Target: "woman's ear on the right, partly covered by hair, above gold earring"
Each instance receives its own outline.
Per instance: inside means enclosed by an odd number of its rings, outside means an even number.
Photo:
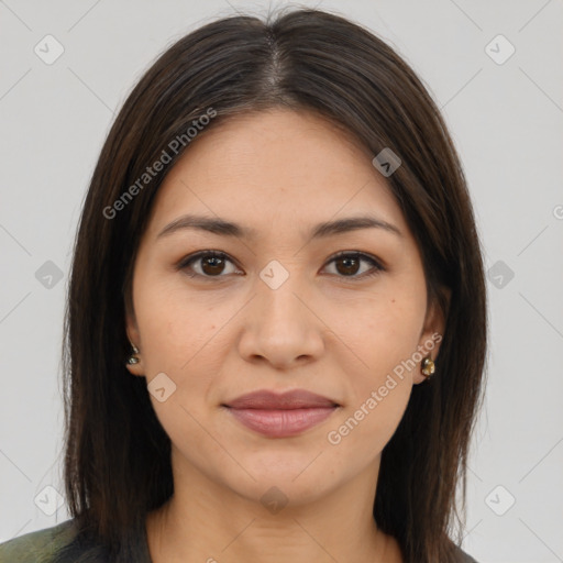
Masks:
[[[448,287],[442,287],[439,291],[440,297],[431,299],[428,303],[424,324],[418,342],[418,351],[422,355],[422,360],[430,356],[430,358],[435,362],[437,372],[440,371],[440,362],[437,361],[437,357],[444,335],[448,311],[450,309],[450,298],[452,295],[451,289]],[[420,371],[422,360],[419,362],[412,378],[415,385],[427,380]]]

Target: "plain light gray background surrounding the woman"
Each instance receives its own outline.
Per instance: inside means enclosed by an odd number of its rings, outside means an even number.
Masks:
[[[390,43],[442,108],[465,166],[490,272],[492,347],[463,547],[481,563],[563,561],[562,2],[301,5],[335,10]],[[114,112],[173,41],[267,8],[0,1],[0,541],[68,518],[55,492],[65,286]],[[55,53],[47,34],[64,47],[51,65],[34,52]]]

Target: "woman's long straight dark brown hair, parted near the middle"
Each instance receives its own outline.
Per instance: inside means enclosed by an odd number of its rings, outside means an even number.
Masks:
[[[185,139],[210,108],[216,117],[198,134],[232,115],[275,107],[314,112],[374,156],[390,147],[402,161],[387,183],[417,240],[429,297],[443,308],[446,325],[438,373],[413,386],[383,451],[374,517],[398,540],[406,562],[454,561],[453,525],[460,526],[457,544],[463,526],[455,489],[461,482],[465,509],[487,324],[466,181],[440,112],[412,69],[358,24],[309,9],[266,21],[229,16],[189,33],[141,78],[109,132],[80,218],[65,318],[70,514],[81,538],[98,541],[111,561],[128,561],[147,511],[173,494],[170,441],[146,380],[125,367],[125,312],[137,245],[161,183],[189,150],[185,143],[172,151],[172,140]],[[163,151],[170,162],[141,188],[139,179]],[[135,183],[134,198],[126,196]],[[119,212],[108,218],[110,207]],[[451,291],[449,307],[444,288]]]

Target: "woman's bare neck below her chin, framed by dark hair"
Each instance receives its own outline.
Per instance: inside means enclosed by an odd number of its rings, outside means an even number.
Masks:
[[[396,540],[373,518],[378,464],[322,498],[307,504],[288,498],[285,506],[277,489],[263,504],[192,466],[181,467],[181,478],[177,473],[173,497],[147,518],[153,563],[401,561]]]

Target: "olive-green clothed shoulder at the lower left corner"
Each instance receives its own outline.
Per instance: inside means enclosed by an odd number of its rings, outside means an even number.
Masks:
[[[0,543],[0,563],[51,563],[76,534],[74,520],[25,533]]]

